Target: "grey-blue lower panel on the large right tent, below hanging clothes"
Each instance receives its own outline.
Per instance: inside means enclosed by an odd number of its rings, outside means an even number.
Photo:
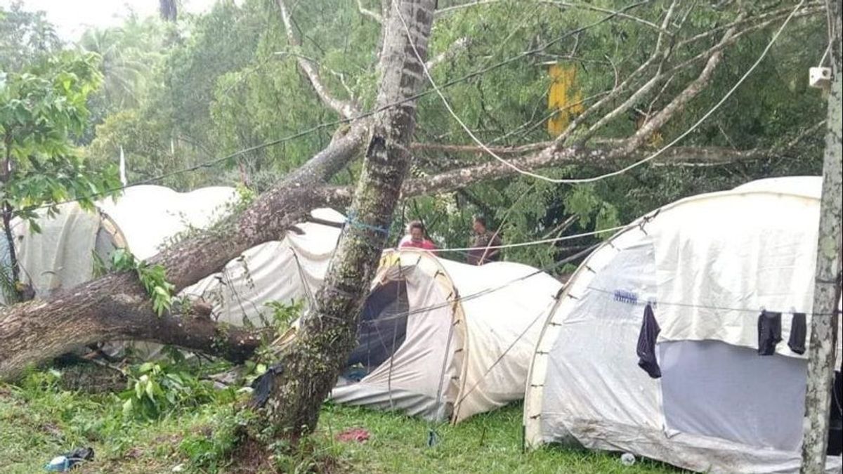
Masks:
[[[658,344],[668,428],[752,446],[802,444],[806,363],[719,341]]]

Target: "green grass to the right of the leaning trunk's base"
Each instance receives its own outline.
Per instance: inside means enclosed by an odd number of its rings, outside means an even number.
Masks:
[[[522,453],[521,414],[516,404],[458,425],[438,425],[438,444],[433,447],[427,445],[429,423],[362,408],[326,406],[319,430],[336,435],[346,428],[368,429],[371,438],[366,443],[339,447],[340,459],[351,472],[677,472],[652,461],[623,466],[619,455],[585,450],[547,447]]]

